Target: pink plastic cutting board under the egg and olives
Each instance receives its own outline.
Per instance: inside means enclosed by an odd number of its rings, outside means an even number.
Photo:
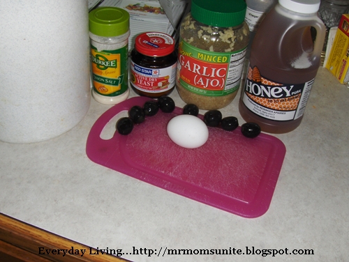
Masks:
[[[182,114],[179,107],[167,114],[159,110],[127,136],[115,131],[111,139],[101,139],[103,128],[115,115],[134,105],[142,107],[147,100],[130,98],[98,118],[87,138],[90,160],[242,217],[267,212],[285,157],[282,141],[263,133],[249,139],[240,127],[232,132],[209,128],[206,144],[182,148],[166,132],[168,121]]]

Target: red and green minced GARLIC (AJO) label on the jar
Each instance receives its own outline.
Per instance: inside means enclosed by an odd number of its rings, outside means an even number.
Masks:
[[[246,48],[237,52],[209,52],[181,40],[177,79],[188,91],[223,96],[239,88]]]

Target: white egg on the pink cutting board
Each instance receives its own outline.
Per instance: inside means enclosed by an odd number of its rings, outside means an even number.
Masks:
[[[184,148],[198,148],[206,143],[209,130],[200,118],[189,114],[174,116],[168,122],[168,136]]]

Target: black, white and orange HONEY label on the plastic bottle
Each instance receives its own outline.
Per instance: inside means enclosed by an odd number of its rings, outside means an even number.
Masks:
[[[274,121],[290,121],[303,116],[314,79],[304,84],[275,83],[248,68],[242,101],[253,113]]]

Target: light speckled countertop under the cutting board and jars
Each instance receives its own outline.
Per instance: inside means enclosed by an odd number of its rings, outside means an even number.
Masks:
[[[178,107],[185,105],[177,91],[170,96]],[[241,124],[237,105],[235,98],[221,111]],[[287,152],[269,210],[253,219],[89,160],[89,130],[110,107],[91,98],[83,120],[59,137],[34,144],[0,142],[0,213],[97,249],[138,249],[138,255],[122,256],[137,262],[348,261],[349,88],[325,68],[315,78],[299,128],[274,135]],[[113,133],[110,123],[103,137]],[[144,248],[235,248],[245,254],[149,256]],[[253,248],[255,254],[246,254]],[[286,248],[313,254],[286,255]],[[262,249],[284,254],[262,256]]]

